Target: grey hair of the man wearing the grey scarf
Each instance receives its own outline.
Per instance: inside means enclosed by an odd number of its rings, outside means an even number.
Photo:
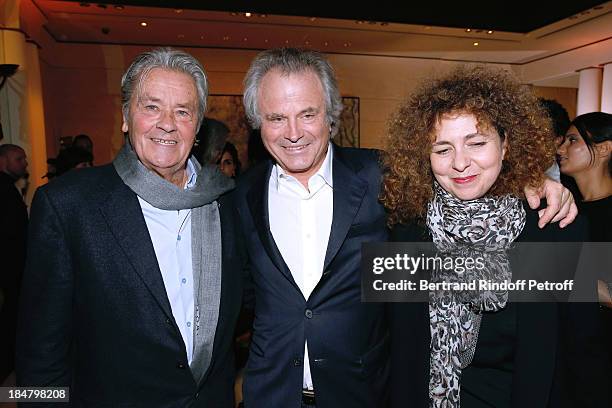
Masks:
[[[123,117],[129,118],[130,101],[134,92],[138,96],[144,79],[155,68],[183,72],[193,78],[198,93],[198,122],[196,132],[200,129],[204,112],[206,111],[206,97],[208,96],[208,81],[206,72],[200,62],[184,51],[173,48],[157,48],[138,55],[132,65],[121,78],[121,110]]]

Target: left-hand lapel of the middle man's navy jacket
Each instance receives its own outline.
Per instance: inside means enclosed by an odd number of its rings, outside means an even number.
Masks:
[[[283,256],[281,255],[274,237],[270,231],[270,217],[268,213],[268,181],[270,180],[270,173],[272,172],[272,164],[268,166],[261,166],[257,170],[259,174],[254,175],[253,185],[247,193],[249,210],[251,211],[251,217],[253,217],[253,223],[255,229],[259,235],[259,239],[268,254],[268,257],[281,271],[281,273],[291,282],[291,284],[301,293],[300,288],[295,283],[293,275],[289,267],[285,263]]]

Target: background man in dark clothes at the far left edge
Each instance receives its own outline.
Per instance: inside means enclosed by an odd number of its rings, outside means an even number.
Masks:
[[[15,182],[27,175],[25,151],[0,146],[0,383],[15,366],[19,287],[26,256],[28,210]]]

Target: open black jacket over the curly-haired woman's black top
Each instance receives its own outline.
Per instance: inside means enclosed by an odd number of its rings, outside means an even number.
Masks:
[[[530,210],[526,205],[525,208],[526,225],[516,242],[572,242],[582,241],[587,236],[587,225],[583,218],[579,217],[565,229],[553,224],[540,230],[537,227],[537,212]],[[420,242],[431,241],[431,237],[426,227],[411,224],[394,228],[392,240]],[[569,361],[574,350],[581,347],[567,341],[580,335],[580,324],[575,325],[576,318],[571,317],[571,313],[575,313],[572,312],[575,305],[516,303],[515,306],[516,332],[513,344],[511,401],[507,401],[507,406],[517,408],[598,406],[577,404],[572,397],[574,394],[572,390],[576,390],[577,387],[585,391],[574,382],[575,378],[571,375],[573,363]],[[587,309],[592,306],[588,303],[577,305],[582,313],[586,313],[582,318],[588,316]],[[596,308],[594,311],[596,312]],[[429,406],[431,341],[429,308],[427,304],[422,303],[396,303],[390,307],[390,315],[391,407],[426,408]],[[483,327],[487,324],[487,317],[483,316]],[[582,329],[585,328],[587,327],[583,325]],[[585,344],[581,340],[579,343]],[[465,370],[470,369],[471,367],[468,367]],[[463,401],[461,406],[470,407]]]

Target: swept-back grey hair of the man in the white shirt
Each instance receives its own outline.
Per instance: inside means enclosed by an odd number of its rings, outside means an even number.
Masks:
[[[254,129],[261,127],[261,116],[257,106],[257,91],[262,78],[271,70],[280,70],[283,75],[313,72],[323,85],[325,117],[331,127],[331,136],[338,132],[342,98],[334,69],[322,54],[299,48],[274,48],[259,53],[244,78],[244,109]]]

